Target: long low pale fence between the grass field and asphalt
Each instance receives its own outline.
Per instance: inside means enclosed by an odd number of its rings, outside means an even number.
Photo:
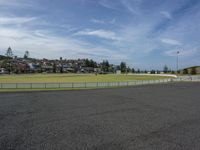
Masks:
[[[147,85],[171,82],[172,79],[126,82],[74,82],[74,83],[0,83],[0,89],[54,89],[54,88],[102,88]]]

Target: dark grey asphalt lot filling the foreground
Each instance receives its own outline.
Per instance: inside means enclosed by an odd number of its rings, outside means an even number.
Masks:
[[[200,82],[0,93],[0,150],[199,150]]]

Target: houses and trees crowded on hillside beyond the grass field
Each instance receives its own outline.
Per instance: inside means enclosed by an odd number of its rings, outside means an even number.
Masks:
[[[0,55],[0,70],[3,73],[93,73],[102,72],[102,64],[88,59],[34,59],[11,58]]]

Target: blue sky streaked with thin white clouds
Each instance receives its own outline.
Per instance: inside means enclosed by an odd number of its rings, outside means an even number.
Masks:
[[[200,65],[199,0],[0,0],[0,54]]]

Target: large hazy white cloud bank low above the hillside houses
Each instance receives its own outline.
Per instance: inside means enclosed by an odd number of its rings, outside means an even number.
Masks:
[[[15,55],[28,50],[36,58],[93,58],[98,61],[109,59],[120,61],[126,56],[103,46],[76,40],[71,37],[53,35],[47,30],[27,30],[0,26],[0,49],[9,46]],[[17,53],[16,53],[17,52]],[[3,54],[3,53],[2,53]],[[112,58],[110,58],[112,56]]]

